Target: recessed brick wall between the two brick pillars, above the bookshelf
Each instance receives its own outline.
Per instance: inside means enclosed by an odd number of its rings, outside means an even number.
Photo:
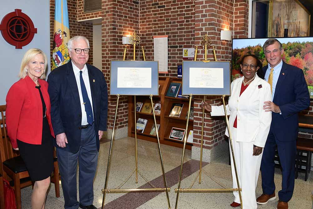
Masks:
[[[194,47],[193,0],[141,0],[139,28],[141,46],[146,60],[154,60],[153,36],[168,35],[168,74],[177,77],[177,65],[182,65],[183,47]]]

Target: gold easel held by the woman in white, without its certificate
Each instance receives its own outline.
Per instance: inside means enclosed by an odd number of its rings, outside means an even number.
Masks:
[[[200,39],[201,45],[203,45],[205,48],[205,57],[203,62],[210,62],[207,60],[207,46],[210,46],[212,44],[211,38],[209,38],[207,35],[204,35]],[[195,52],[195,58],[194,61],[197,59],[197,52],[198,52],[198,46],[196,46],[196,52]],[[214,54],[214,59],[216,59],[216,54],[215,54],[215,48],[213,46],[213,54]],[[205,102],[205,98],[207,95],[203,96],[203,102]],[[191,99],[192,99],[192,94],[189,95],[189,109],[188,109],[188,118],[187,118],[187,125],[186,125],[186,130],[188,128],[188,123],[189,123],[189,114],[190,114],[190,107],[191,107]],[[201,151],[200,151],[200,168],[198,175],[196,176],[195,180],[192,182],[191,186],[189,188],[180,188],[180,183],[182,179],[182,167],[183,167],[183,160],[184,160],[184,154],[185,154],[185,147],[186,147],[186,141],[187,141],[187,134],[185,134],[184,137],[184,146],[182,150],[182,162],[181,162],[181,167],[180,167],[180,174],[179,174],[179,180],[178,180],[178,188],[175,189],[177,191],[177,196],[176,196],[176,203],[175,203],[175,209],[177,209],[178,206],[178,197],[179,197],[179,192],[207,192],[207,191],[212,191],[212,192],[232,192],[232,191],[238,191],[239,192],[239,199],[240,199],[240,207],[242,209],[242,196],[241,196],[241,188],[239,185],[239,180],[238,180],[238,174],[237,174],[237,167],[236,167],[236,162],[235,162],[235,155],[233,152],[233,142],[232,142],[232,137],[230,133],[230,127],[228,123],[228,117],[227,117],[227,112],[226,112],[226,105],[225,105],[225,95],[222,96],[223,99],[223,106],[224,106],[224,112],[225,112],[225,119],[226,119],[226,124],[228,128],[228,133],[229,133],[229,142],[230,142],[230,147],[232,151],[232,156],[233,156],[233,162],[234,162],[234,169],[235,169],[235,174],[236,174],[236,181],[238,188],[230,188],[230,189],[192,189],[193,184],[196,182],[198,176],[199,176],[199,184],[201,184],[201,172],[203,171],[204,174],[209,176],[204,170],[202,170],[202,153],[203,153],[203,126],[204,126],[204,108],[202,110],[202,129],[201,129]]]

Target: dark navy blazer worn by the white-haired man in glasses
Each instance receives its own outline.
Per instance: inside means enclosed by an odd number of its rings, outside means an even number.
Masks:
[[[108,91],[103,73],[96,67],[86,64],[90,82],[95,133],[106,131],[108,115]],[[82,112],[78,87],[72,62],[64,64],[48,76],[48,93],[51,102],[51,122],[54,134],[65,133],[68,144],[64,149],[76,153],[80,147]],[[99,151],[99,139],[96,137]]]

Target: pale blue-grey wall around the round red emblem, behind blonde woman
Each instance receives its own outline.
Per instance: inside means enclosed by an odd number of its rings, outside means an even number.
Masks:
[[[15,46],[8,44],[0,34],[0,105],[5,105],[5,97],[13,83],[18,81],[18,72],[21,60],[25,52],[30,48],[39,48],[48,57],[47,73],[50,72],[50,19],[49,1],[38,0],[0,0],[0,22],[3,17],[14,9],[22,9],[27,14],[37,28],[37,34],[33,40],[23,49],[15,49]]]

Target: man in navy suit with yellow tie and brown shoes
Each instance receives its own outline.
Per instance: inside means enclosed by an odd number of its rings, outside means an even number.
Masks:
[[[263,45],[268,65],[263,67],[265,80],[271,84],[272,101],[264,102],[264,110],[272,111],[272,123],[261,162],[263,194],[258,204],[275,200],[274,155],[277,146],[282,166],[282,190],[278,192],[277,209],[288,209],[295,185],[296,139],[298,113],[310,106],[310,95],[302,69],[281,60],[284,53],[277,39]]]

